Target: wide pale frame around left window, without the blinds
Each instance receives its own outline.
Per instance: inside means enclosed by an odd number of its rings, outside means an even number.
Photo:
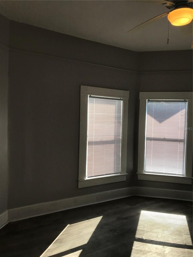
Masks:
[[[87,110],[88,96],[106,96],[123,99],[122,111],[122,153],[121,153],[121,173],[97,177],[86,177],[87,162]],[[79,171],[78,188],[96,186],[101,184],[120,182],[126,180],[127,170],[127,126],[128,126],[128,99],[129,91],[107,89],[93,86],[81,86],[80,103],[80,140],[79,140]]]

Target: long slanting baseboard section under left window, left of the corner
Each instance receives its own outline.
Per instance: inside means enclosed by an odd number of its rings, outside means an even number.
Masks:
[[[43,202],[34,205],[23,206],[19,208],[9,209],[8,220],[9,222],[18,221],[95,203],[107,202],[132,195],[134,195],[134,187],[126,187],[100,193],[61,199],[52,202]]]

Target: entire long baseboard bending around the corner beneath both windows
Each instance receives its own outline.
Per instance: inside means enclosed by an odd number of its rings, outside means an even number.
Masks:
[[[121,199],[128,196],[146,196],[192,201],[191,191],[133,186],[9,209],[8,221],[18,221],[81,206]]]

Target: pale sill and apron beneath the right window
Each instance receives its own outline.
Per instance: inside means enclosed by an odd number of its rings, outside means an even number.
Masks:
[[[174,175],[162,175],[162,174],[151,174],[151,173],[139,173],[138,180],[149,180],[158,182],[168,182],[168,183],[179,183],[179,184],[191,184],[192,177],[182,177]]]

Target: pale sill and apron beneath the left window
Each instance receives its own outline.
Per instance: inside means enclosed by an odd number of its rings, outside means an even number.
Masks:
[[[121,182],[126,180],[125,174],[115,174],[109,176],[101,176],[101,177],[92,177],[78,181],[78,188],[87,187],[87,186],[97,186],[102,184]]]

